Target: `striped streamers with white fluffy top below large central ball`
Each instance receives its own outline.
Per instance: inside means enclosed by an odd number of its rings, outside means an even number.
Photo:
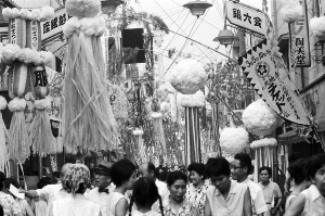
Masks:
[[[185,165],[202,162],[200,129],[198,109],[205,105],[206,97],[203,91],[195,94],[180,94],[179,104],[185,107]]]

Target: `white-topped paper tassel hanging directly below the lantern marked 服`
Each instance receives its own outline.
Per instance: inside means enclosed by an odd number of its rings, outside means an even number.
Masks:
[[[49,99],[36,100],[34,103],[36,115],[29,127],[28,145],[32,151],[44,156],[47,154],[56,154],[56,142],[52,135],[48,109],[51,107]]]

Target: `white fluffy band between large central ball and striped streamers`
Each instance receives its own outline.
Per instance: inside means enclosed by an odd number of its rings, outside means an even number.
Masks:
[[[206,104],[206,97],[203,91],[194,94],[178,94],[178,103],[183,107],[202,107]]]

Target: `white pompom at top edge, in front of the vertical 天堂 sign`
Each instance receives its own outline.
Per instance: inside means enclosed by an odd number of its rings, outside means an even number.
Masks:
[[[280,11],[282,18],[286,23],[292,23],[301,18],[303,15],[303,9],[299,1],[295,0],[283,0],[282,9]]]

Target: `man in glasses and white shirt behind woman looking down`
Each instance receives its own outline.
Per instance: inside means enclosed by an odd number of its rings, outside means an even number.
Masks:
[[[251,158],[246,153],[237,153],[231,163],[233,180],[247,183],[251,198],[252,215],[261,216],[268,212],[262,189],[258,183],[249,180],[248,175],[252,171]]]

